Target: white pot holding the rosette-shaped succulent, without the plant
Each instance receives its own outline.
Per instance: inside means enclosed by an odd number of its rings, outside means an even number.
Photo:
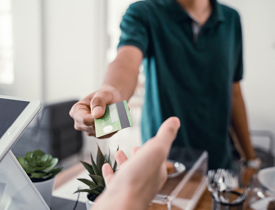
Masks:
[[[36,189],[39,191],[45,202],[51,207],[52,191],[55,185],[55,176],[45,181],[32,182]]]

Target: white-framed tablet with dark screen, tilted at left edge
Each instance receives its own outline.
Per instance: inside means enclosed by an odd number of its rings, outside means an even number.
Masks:
[[[37,99],[0,95],[0,161],[40,108]]]

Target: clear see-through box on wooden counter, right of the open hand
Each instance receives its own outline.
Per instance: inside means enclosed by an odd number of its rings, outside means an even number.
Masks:
[[[206,187],[208,153],[191,148],[174,148],[168,157],[186,168],[181,174],[168,178],[152,200],[150,209],[193,209]],[[161,207],[161,205],[166,207]]]

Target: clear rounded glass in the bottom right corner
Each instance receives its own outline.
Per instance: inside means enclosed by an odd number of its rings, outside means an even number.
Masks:
[[[275,209],[275,167],[260,169],[253,175],[243,209]]]

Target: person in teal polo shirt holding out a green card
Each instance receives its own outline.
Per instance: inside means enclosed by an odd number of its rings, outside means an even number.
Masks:
[[[232,125],[247,159],[254,158],[239,80],[242,40],[238,13],[215,0],[144,0],[120,24],[117,56],[102,87],[76,103],[75,128],[94,135],[106,104],[133,94],[144,67],[142,140],[169,116],[180,119],[173,147],[206,149],[209,168],[228,168]]]

